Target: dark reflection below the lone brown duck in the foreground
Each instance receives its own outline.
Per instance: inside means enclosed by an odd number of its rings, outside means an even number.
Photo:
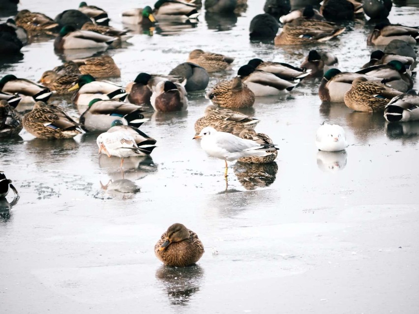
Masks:
[[[188,267],[161,266],[156,271],[156,278],[167,292],[173,305],[186,305],[199,291],[204,278],[204,269],[199,265]]]

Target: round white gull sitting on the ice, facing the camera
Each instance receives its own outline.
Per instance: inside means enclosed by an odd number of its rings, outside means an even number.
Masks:
[[[323,122],[316,132],[316,146],[323,152],[343,151],[348,147],[345,130],[337,124]]]

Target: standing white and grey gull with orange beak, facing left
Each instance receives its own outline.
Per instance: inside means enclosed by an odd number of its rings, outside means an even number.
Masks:
[[[224,159],[226,168],[224,176],[227,178],[227,160],[233,161],[241,157],[265,157],[272,151],[277,150],[274,144],[261,145],[250,139],[240,138],[239,136],[216,131],[214,128],[206,127],[193,139],[201,138],[202,149],[211,157]]]

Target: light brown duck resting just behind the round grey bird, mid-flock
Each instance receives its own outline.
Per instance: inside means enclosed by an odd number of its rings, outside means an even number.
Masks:
[[[186,61],[203,67],[207,72],[217,72],[230,70],[234,58],[223,54],[204,52],[201,49],[195,49],[189,53],[189,57]]]

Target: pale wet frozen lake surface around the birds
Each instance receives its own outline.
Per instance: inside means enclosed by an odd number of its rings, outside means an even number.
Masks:
[[[54,18],[79,2],[27,0],[19,9]],[[167,74],[198,48],[236,57],[210,86],[254,57],[299,66],[316,46],[250,43],[248,26],[263,2],[248,0],[237,18],[202,10],[196,27],[137,33],[107,52],[121,69],[113,80]],[[150,4],[88,3],[119,28],[123,10]],[[417,26],[419,8],[393,6],[389,21]],[[366,46],[372,25],[346,26],[318,47],[336,54],[341,70],[355,71],[374,50]],[[21,61],[0,67],[0,77],[38,80],[64,58],[53,40],[22,52]],[[189,95],[184,113],[150,108],[141,129],[158,147],[152,159],[124,162],[123,179],[136,193],[115,190],[120,159],[99,158],[95,134],[49,141],[23,131],[1,141],[0,170],[21,195],[0,213],[1,313],[419,313],[419,122],[389,125],[382,113],[322,105],[318,85],[305,81],[280,97],[257,98],[247,112],[279,146],[278,158],[269,167],[229,163],[227,188],[224,162],[192,140],[209,105],[204,93]],[[78,117],[68,97],[52,100]],[[315,132],[325,120],[346,130],[346,154],[317,151]],[[265,177],[255,178],[257,171]],[[175,222],[204,243],[196,266],[169,268],[154,256]]]

